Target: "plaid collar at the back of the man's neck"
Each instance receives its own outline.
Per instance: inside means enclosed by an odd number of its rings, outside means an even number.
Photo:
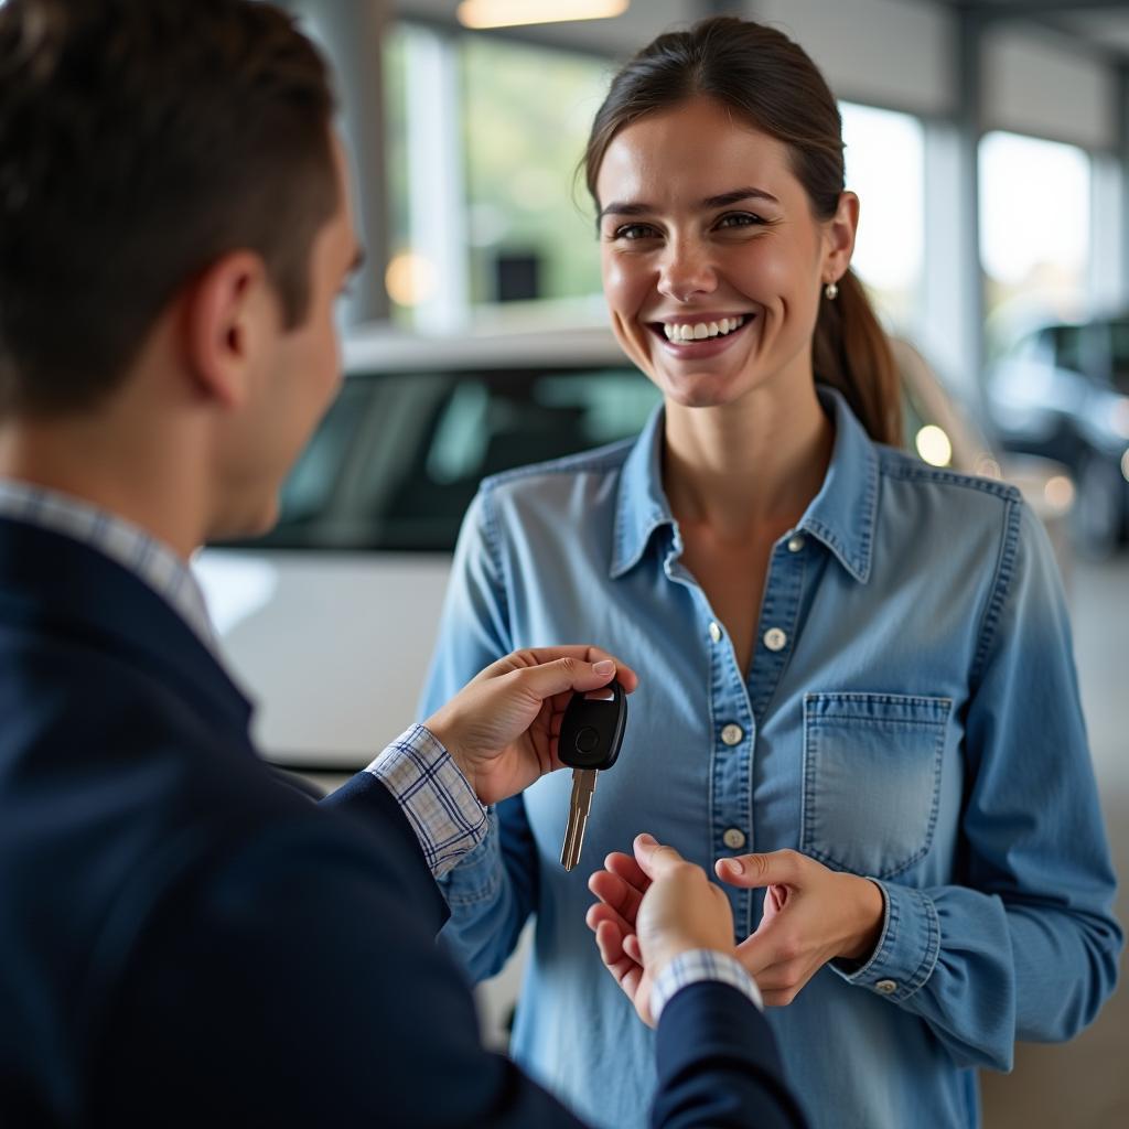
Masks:
[[[0,479],[0,516],[61,533],[116,561],[216,650],[216,633],[195,577],[168,545],[140,526],[71,495],[12,479]]]

